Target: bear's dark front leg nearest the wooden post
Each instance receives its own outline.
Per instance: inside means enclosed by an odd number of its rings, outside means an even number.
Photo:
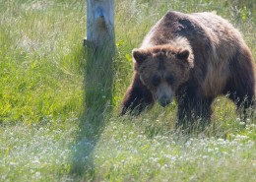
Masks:
[[[125,93],[121,105],[121,115],[126,113],[138,115],[147,107],[154,104],[154,98],[146,86],[142,84],[138,75],[134,76],[132,85]]]

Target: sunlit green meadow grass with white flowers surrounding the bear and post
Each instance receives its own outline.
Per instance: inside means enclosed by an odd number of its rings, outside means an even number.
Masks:
[[[117,116],[131,51],[168,10],[216,11],[256,58],[253,0],[117,0],[113,109],[98,113],[84,104],[86,1],[0,0],[0,181],[256,181],[256,121],[225,97],[191,136],[175,103]]]

